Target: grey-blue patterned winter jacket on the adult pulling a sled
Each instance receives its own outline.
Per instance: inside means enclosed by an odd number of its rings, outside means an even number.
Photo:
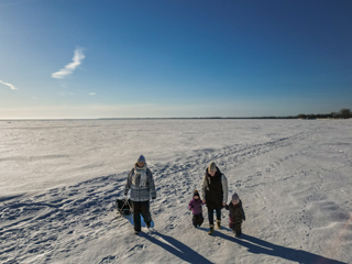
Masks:
[[[145,164],[145,183],[141,184],[142,175],[139,174],[140,170],[141,168],[135,165],[129,173],[128,180],[124,186],[124,195],[127,196],[131,189],[130,199],[132,201],[148,201],[151,197],[156,197],[153,174]]]

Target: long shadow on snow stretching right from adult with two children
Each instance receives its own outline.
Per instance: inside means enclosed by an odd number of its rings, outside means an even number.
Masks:
[[[276,245],[248,234],[242,234],[241,239],[229,237],[221,232],[216,232],[215,235],[245,246],[248,248],[249,252],[253,254],[277,256],[288,261],[298,262],[300,264],[346,264],[344,262],[327,258],[324,256],[309,253],[307,251],[294,250],[282,245]]]

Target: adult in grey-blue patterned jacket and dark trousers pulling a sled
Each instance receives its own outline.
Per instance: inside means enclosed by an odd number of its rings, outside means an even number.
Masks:
[[[141,215],[146,227],[151,227],[150,199],[151,197],[152,199],[156,198],[153,174],[147,167],[143,155],[139,157],[128,176],[124,196],[128,196],[130,189],[130,199],[133,206],[134,233],[139,234],[141,232]]]

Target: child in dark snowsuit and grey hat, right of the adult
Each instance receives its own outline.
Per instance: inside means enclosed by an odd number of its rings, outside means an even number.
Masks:
[[[245,221],[245,215],[242,208],[242,201],[237,193],[233,194],[232,200],[229,206],[226,206],[226,209],[229,210],[230,229],[235,233],[235,237],[241,237],[242,229],[241,224],[242,221]]]

